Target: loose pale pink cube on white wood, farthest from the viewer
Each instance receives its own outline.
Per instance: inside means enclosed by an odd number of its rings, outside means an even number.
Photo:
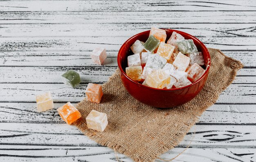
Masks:
[[[106,49],[97,47],[91,53],[91,58],[95,64],[103,64],[105,59],[107,58]]]

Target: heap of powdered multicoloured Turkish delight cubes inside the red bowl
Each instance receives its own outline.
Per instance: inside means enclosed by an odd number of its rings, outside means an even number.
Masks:
[[[158,89],[185,87],[204,73],[202,52],[193,40],[173,31],[166,42],[166,31],[152,27],[148,40],[137,40],[130,48],[126,74],[132,80]]]

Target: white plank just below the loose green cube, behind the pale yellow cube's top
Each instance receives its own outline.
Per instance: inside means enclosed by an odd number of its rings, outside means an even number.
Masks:
[[[79,102],[85,98],[87,84],[79,84],[72,89],[65,84],[13,83],[0,84],[0,102],[34,102],[35,95],[51,91],[55,102]],[[256,87],[254,84],[231,84],[220,94],[220,103],[255,103]]]

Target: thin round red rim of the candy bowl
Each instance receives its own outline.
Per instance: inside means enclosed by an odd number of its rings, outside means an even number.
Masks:
[[[178,31],[178,30],[174,30],[174,29],[170,29],[170,28],[160,28],[160,29],[171,30],[171,31],[175,31],[176,33],[182,33],[182,34],[184,34],[184,35],[189,35],[189,36],[191,36],[192,38],[194,38],[195,40],[197,40],[197,41],[202,45],[202,47],[203,47],[204,49],[206,49],[209,60],[208,60],[208,64],[207,64],[207,67],[206,67],[206,69],[205,69],[204,74],[203,74],[197,81],[193,82],[192,84],[189,84],[189,85],[187,85],[187,86],[185,86],[185,87],[174,88],[174,89],[158,89],[158,88],[148,87],[148,86],[145,86],[145,85],[143,85],[143,84],[141,84],[141,83],[135,82],[134,80],[132,80],[131,78],[129,78],[129,77],[126,75],[126,73],[124,72],[124,70],[122,69],[122,67],[121,67],[121,51],[122,51],[122,49],[124,48],[124,46],[127,44],[127,42],[129,42],[130,40],[132,40],[132,39],[135,38],[136,36],[143,35],[143,34],[147,33],[147,32],[150,31],[150,30],[143,31],[143,32],[141,32],[141,33],[137,33],[136,35],[134,35],[134,36],[130,37],[128,40],[126,40],[126,41],[124,42],[124,44],[122,44],[122,46],[120,47],[120,49],[119,49],[119,51],[118,51],[118,54],[117,54],[117,64],[118,64],[118,67],[119,67],[119,70],[121,71],[121,73],[122,73],[128,80],[130,80],[131,82],[133,82],[133,83],[135,83],[135,84],[137,84],[137,85],[139,85],[139,86],[142,86],[142,87],[145,87],[145,88],[148,88],[148,89],[157,90],[157,91],[177,91],[177,90],[180,90],[180,89],[189,88],[189,87],[193,86],[194,84],[197,84],[198,82],[200,82],[200,80],[202,80],[202,78],[204,78],[204,77],[209,73],[209,69],[210,69],[210,67],[211,67],[211,56],[210,56],[210,53],[209,53],[207,47],[206,47],[198,38],[196,38],[196,37],[194,37],[194,36],[192,36],[192,35],[190,35],[190,34],[188,34],[188,33],[185,33],[185,32],[183,32],[183,31]]]

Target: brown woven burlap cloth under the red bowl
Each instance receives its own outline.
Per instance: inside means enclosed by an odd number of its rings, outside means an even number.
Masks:
[[[92,140],[127,155],[135,162],[155,161],[182,141],[198,117],[217,101],[243,67],[219,49],[209,48],[209,52],[211,67],[206,85],[190,102],[171,109],[142,104],[126,91],[117,69],[103,84],[104,95],[100,104],[88,102],[85,98],[77,105],[82,118],[74,124]],[[92,109],[107,113],[108,126],[104,132],[87,128],[85,118]]]

